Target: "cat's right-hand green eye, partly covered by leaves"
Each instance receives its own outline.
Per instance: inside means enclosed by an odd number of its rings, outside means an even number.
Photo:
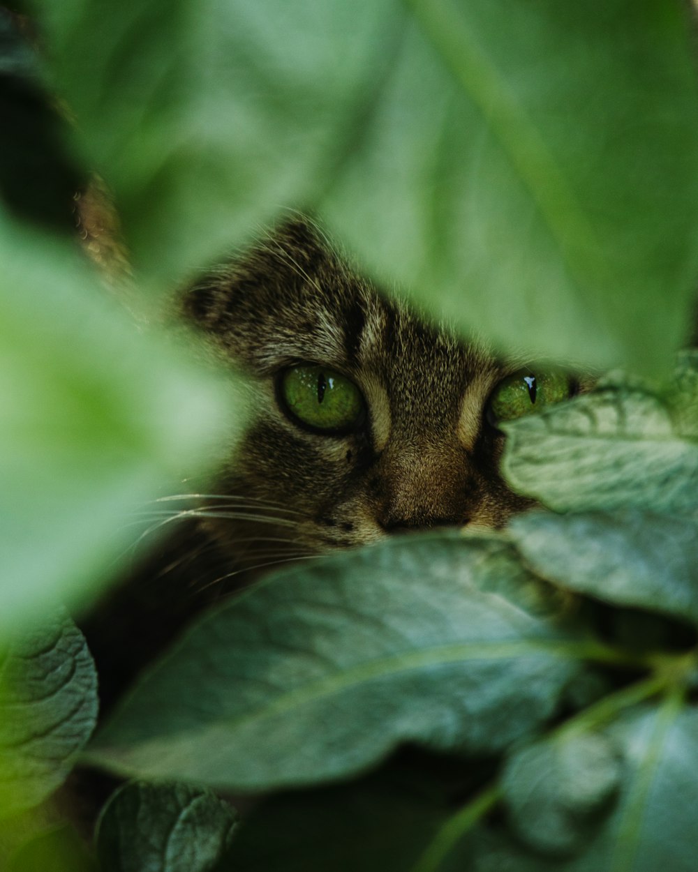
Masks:
[[[493,424],[540,412],[572,394],[572,379],[560,370],[519,370],[503,378],[489,398],[488,416]]]

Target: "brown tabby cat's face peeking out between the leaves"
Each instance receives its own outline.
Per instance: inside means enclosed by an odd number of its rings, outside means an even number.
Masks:
[[[486,414],[521,362],[381,296],[309,222],[208,276],[185,310],[250,377],[250,426],[217,488],[249,517],[208,521],[241,565],[265,540],[266,555],[314,554],[414,528],[501,526],[530,505],[499,474],[504,437]]]

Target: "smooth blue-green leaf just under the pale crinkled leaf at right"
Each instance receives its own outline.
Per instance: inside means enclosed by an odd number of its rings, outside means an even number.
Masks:
[[[698,521],[637,510],[512,519],[538,576],[607,603],[698,622]]]

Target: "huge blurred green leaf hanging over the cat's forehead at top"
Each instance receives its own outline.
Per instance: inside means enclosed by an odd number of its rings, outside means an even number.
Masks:
[[[34,0],[136,260],[280,206],[506,347],[666,364],[698,274],[698,93],[665,0]]]

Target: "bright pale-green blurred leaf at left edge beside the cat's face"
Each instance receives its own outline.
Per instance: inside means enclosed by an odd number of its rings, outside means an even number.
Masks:
[[[0,258],[2,632],[104,584],[133,512],[209,467],[242,421],[231,392],[139,332],[70,249],[0,215]]]

